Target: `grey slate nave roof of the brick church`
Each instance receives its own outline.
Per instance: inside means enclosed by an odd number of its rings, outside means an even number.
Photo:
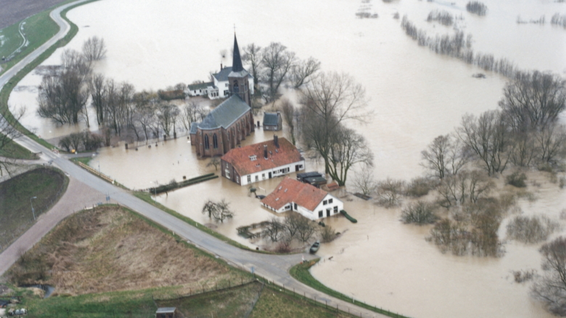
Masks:
[[[201,129],[228,128],[236,119],[248,113],[250,109],[250,106],[238,94],[234,94],[216,106],[197,126]]]

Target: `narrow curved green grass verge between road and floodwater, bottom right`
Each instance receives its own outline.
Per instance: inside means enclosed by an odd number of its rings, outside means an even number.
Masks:
[[[308,271],[308,269],[310,269],[312,267],[312,265],[316,264],[316,262],[318,262],[318,260],[311,261],[310,263],[297,264],[294,267],[291,267],[291,269],[289,270],[289,273],[291,274],[291,276],[293,276],[299,282],[302,282],[305,285],[311,286],[312,288],[314,288],[318,291],[321,291],[324,294],[331,295],[331,296],[333,296],[337,299],[341,299],[341,300],[344,300],[344,301],[349,302],[351,304],[354,304],[356,306],[366,308],[367,310],[371,310],[371,311],[375,311],[377,313],[381,313],[385,316],[394,317],[394,318],[408,318],[406,316],[400,315],[400,314],[395,313],[395,312],[387,311],[387,310],[384,310],[382,308],[378,308],[378,307],[374,307],[374,306],[369,306],[366,303],[359,302],[358,300],[354,300],[353,298],[346,296],[342,293],[339,293],[336,290],[328,288],[323,283],[316,280],[316,278],[312,277],[311,273]]]

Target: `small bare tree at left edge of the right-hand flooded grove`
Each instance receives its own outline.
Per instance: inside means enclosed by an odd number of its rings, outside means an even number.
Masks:
[[[457,174],[467,161],[461,141],[451,135],[436,137],[421,156],[424,161],[422,166],[439,179]]]

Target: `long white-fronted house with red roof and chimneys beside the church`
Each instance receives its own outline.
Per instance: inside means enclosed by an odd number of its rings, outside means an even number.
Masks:
[[[230,149],[221,158],[222,177],[241,186],[301,170],[305,170],[305,158],[289,140],[277,136]]]

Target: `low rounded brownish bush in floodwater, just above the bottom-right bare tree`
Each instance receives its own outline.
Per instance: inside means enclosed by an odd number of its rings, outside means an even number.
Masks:
[[[560,224],[547,216],[516,216],[507,225],[507,237],[523,243],[543,242]]]

